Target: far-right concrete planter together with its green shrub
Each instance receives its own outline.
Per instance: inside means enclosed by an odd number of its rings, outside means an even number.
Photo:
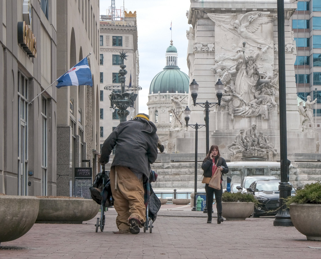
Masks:
[[[321,241],[321,183],[306,184],[286,204],[294,227],[308,240]]]

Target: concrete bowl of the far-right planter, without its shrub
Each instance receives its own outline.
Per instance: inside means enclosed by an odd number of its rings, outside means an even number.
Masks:
[[[290,204],[294,227],[308,240],[321,241],[321,204]]]

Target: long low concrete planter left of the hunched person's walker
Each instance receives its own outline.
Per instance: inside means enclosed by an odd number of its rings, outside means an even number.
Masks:
[[[92,199],[39,198],[36,223],[74,223],[94,218],[100,205]]]

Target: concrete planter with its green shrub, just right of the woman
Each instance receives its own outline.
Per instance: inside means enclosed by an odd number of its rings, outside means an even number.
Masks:
[[[258,201],[252,194],[224,192],[222,195],[222,216],[226,220],[245,220]]]

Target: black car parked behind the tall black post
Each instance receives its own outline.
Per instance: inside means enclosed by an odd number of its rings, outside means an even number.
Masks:
[[[258,218],[260,216],[275,215],[278,213],[280,207],[280,180],[259,180],[253,182],[247,192],[253,193],[254,197],[260,202],[260,205],[254,207],[252,217]],[[290,183],[291,184],[291,183]],[[295,189],[292,186],[291,194],[295,194]]]

